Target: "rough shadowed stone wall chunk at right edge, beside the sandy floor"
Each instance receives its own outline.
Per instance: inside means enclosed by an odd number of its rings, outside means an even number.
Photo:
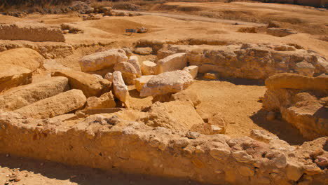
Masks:
[[[266,80],[264,109],[279,112],[303,137],[328,135],[328,76],[278,74]]]

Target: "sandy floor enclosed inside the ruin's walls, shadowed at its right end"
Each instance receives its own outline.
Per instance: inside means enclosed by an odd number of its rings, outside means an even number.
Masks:
[[[197,93],[201,103],[196,107],[205,114],[217,112],[224,116],[228,127],[226,135],[231,137],[249,136],[252,129],[268,130],[289,144],[298,145],[306,141],[299,130],[280,121],[266,120],[266,111],[261,110],[260,97],[266,87],[257,81],[242,79],[196,80],[189,90]],[[151,97],[140,98],[139,93],[130,87],[130,107],[142,110],[151,106]]]

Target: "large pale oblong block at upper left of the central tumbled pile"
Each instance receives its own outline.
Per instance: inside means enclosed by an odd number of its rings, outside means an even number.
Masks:
[[[128,57],[122,49],[111,49],[82,57],[79,61],[82,71],[97,71],[113,67],[119,62],[126,62]]]

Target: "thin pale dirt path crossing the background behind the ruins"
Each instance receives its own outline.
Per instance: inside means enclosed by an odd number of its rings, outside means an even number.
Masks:
[[[217,19],[217,18],[206,18],[203,16],[198,15],[187,15],[187,14],[176,14],[176,13],[153,13],[153,12],[141,12],[141,11],[121,11],[121,10],[115,10],[116,12],[124,12],[124,13],[139,13],[141,15],[154,15],[154,16],[161,16],[166,18],[174,18],[177,20],[196,20],[196,21],[202,21],[202,22],[222,22],[222,23],[228,23],[228,24],[235,24],[238,23],[238,25],[247,25],[247,26],[266,26],[266,24],[261,23],[255,23],[255,22],[245,22],[240,20],[225,20],[225,19]]]

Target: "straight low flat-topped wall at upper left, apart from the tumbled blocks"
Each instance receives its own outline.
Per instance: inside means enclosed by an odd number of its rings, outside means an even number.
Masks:
[[[25,40],[34,42],[64,42],[65,38],[60,27],[48,25],[27,25],[22,23],[0,25],[0,39]]]

